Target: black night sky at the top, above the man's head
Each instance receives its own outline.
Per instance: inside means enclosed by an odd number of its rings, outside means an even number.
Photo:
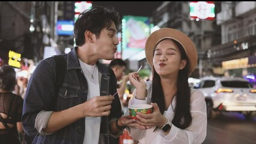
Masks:
[[[93,5],[112,5],[120,16],[147,16],[150,17],[162,1],[93,1]]]

